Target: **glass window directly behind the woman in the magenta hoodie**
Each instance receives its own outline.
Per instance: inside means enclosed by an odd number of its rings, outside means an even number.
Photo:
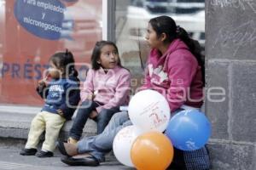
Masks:
[[[143,67],[149,52],[144,35],[151,18],[171,16],[204,48],[204,0],[119,0],[115,15],[116,42],[123,64],[131,71],[133,88],[143,82]]]

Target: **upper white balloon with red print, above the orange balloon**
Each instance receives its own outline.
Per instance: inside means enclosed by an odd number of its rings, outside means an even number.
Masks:
[[[128,105],[128,113],[132,124],[144,132],[165,131],[171,116],[166,98],[154,90],[135,94]]]

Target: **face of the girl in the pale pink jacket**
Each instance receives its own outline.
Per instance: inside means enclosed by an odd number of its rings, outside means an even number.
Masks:
[[[119,54],[113,45],[104,45],[101,50],[100,59],[97,60],[103,69],[113,69],[119,62]]]

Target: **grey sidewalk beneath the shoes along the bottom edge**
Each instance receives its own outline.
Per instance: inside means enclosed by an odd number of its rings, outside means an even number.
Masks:
[[[61,154],[55,152],[54,157],[38,158],[37,156],[20,156],[20,149],[0,146],[0,169],[1,170],[132,170],[119,164],[113,156],[108,156],[107,161],[98,167],[70,167],[61,162]]]

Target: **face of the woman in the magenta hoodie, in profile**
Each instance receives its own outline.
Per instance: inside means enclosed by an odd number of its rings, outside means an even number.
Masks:
[[[157,37],[156,32],[154,31],[153,27],[149,23],[148,23],[147,34],[145,38],[150,48],[159,48],[160,45],[162,44],[162,41],[160,41],[160,38]]]

